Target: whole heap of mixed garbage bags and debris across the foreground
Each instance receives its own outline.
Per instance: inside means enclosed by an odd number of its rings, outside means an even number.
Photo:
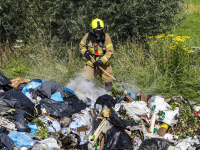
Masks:
[[[200,105],[125,90],[91,99],[44,79],[0,71],[0,149],[200,149]]]

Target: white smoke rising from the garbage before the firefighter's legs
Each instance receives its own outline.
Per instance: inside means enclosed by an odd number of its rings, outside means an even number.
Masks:
[[[93,82],[85,80],[83,74],[70,80],[66,87],[73,90],[75,93],[85,95],[93,101],[96,101],[99,96],[107,93],[105,89],[96,87]]]

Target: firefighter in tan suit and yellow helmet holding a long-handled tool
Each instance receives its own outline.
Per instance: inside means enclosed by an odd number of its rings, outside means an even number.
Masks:
[[[104,22],[101,19],[96,18],[91,22],[91,31],[85,34],[79,45],[81,53],[88,60],[83,68],[85,78],[93,81],[97,75],[100,75],[105,90],[111,92],[112,78],[101,71],[99,66],[113,76],[109,59],[114,49],[110,36],[105,33]],[[90,56],[95,59],[94,63]]]

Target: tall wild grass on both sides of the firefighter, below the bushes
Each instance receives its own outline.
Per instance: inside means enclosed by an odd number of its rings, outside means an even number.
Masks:
[[[192,49],[192,46],[200,47],[200,1],[192,0],[186,5],[188,17],[179,27],[173,27],[172,33],[175,36],[191,36],[192,41],[187,45],[195,52],[188,59],[185,59],[185,66],[181,74],[181,80],[175,82],[177,76],[169,69],[163,71],[164,66],[170,65],[166,55],[169,49],[168,44],[154,45],[148,51],[144,45],[125,43],[116,45],[115,53],[111,59],[114,77],[124,86],[124,89],[134,93],[145,92],[146,94],[162,94],[166,98],[183,94],[189,100],[200,102],[200,52]],[[167,41],[163,41],[167,42]],[[33,46],[1,52],[1,71],[8,78],[21,77],[22,79],[44,79],[56,81],[66,86],[70,79],[75,78],[82,72],[86,62],[80,55],[77,45],[72,43],[69,47],[43,46],[42,39]],[[57,43],[59,45],[59,43]],[[158,53],[159,52],[159,53]],[[159,55],[155,55],[159,54]],[[177,58],[181,58],[178,57]],[[184,58],[184,57],[183,57]],[[171,61],[173,64],[173,61]],[[162,66],[163,65],[163,66]],[[169,68],[169,67],[168,67]],[[171,74],[169,74],[171,73]],[[173,73],[173,75],[172,75]],[[98,77],[96,84],[101,84]],[[116,86],[117,83],[114,82]],[[177,86],[179,85],[179,86]]]

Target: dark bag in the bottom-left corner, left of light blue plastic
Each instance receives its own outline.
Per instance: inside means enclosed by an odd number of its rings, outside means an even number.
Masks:
[[[6,134],[2,133],[0,136],[0,148],[4,150],[14,150],[15,144],[13,140]]]

